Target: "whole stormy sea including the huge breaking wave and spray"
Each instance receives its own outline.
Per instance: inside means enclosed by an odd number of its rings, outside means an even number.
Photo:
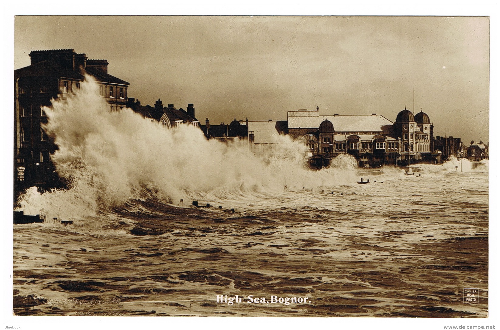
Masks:
[[[69,188],[16,201],[45,221],[13,228],[14,315],[488,316],[487,161],[313,171],[81,89],[44,109]]]

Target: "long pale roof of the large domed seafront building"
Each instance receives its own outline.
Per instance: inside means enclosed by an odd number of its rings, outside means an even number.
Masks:
[[[386,131],[393,123],[382,115],[328,115],[320,116],[316,111],[288,111],[288,129],[319,128],[322,121],[329,120],[335,132],[379,132]]]

